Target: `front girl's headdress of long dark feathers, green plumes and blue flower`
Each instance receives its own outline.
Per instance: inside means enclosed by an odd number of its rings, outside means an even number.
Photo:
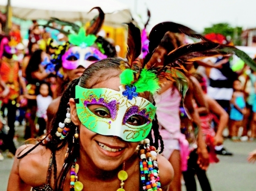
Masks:
[[[190,37],[196,37],[204,41],[173,47],[173,33],[184,33]],[[176,81],[181,95],[184,97],[188,89],[186,77],[180,71],[184,69],[184,63],[217,55],[236,54],[247,65],[256,71],[255,62],[243,51],[229,45],[223,45],[209,41],[204,36],[190,28],[173,22],[160,23],[152,28],[149,34],[149,53],[140,63],[137,57],[141,50],[140,30],[134,24],[128,24],[128,53],[127,62],[123,62],[120,68],[121,84],[125,86],[124,96],[132,98],[138,93],[148,91],[152,94],[160,89],[162,78]]]

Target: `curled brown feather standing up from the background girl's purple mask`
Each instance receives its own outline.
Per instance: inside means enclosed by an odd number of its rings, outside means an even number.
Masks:
[[[91,21],[90,26],[86,29],[86,35],[88,34],[96,35],[100,31],[104,22],[105,14],[100,7],[92,8],[89,11],[89,13],[94,9],[97,9],[99,11],[99,15]]]

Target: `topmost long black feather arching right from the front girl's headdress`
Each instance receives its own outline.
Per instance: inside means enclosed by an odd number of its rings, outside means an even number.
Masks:
[[[201,34],[195,32],[194,30],[184,25],[174,23],[174,22],[163,22],[154,26],[148,36],[148,39],[149,39],[148,50],[150,53],[152,53],[154,49],[159,45],[161,39],[164,37],[164,34],[168,31],[173,33],[184,33],[190,37],[208,41],[204,36],[202,36]]]

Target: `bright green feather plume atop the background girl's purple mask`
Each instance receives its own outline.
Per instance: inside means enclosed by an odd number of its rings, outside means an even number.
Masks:
[[[86,36],[84,28],[80,28],[78,34],[68,35],[68,40],[71,44],[79,46],[81,44],[86,44],[86,46],[91,46],[94,44],[97,37],[93,34]]]

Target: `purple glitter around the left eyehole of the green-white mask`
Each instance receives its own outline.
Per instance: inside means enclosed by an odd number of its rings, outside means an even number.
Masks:
[[[92,95],[90,95],[91,97]],[[103,105],[105,106],[106,108],[108,108],[109,112],[110,112],[110,115],[111,115],[111,118],[112,120],[115,120],[116,119],[116,116],[117,116],[117,101],[116,100],[112,100],[110,102],[106,102],[104,100],[104,98],[99,98],[98,101],[96,100],[96,98],[92,98],[90,100],[85,100],[84,101],[84,106],[86,107],[88,104],[92,105],[92,104],[98,104],[98,105]]]

